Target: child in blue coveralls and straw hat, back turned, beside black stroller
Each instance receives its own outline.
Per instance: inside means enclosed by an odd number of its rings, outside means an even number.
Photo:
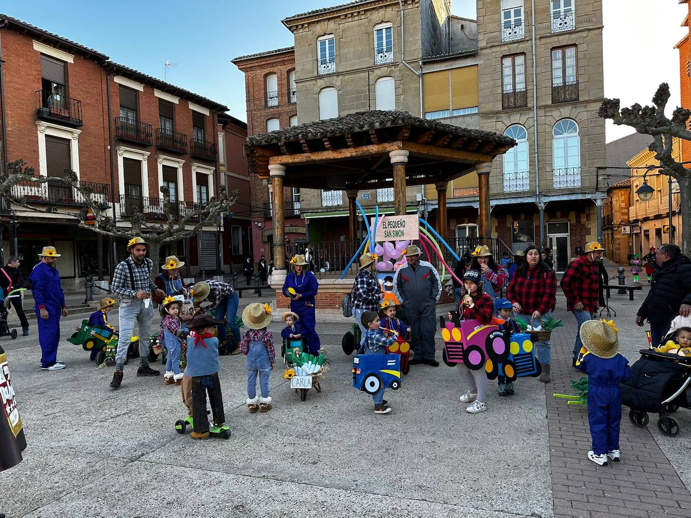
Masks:
[[[583,347],[576,368],[588,375],[588,423],[593,440],[588,459],[600,466],[607,466],[607,457],[614,462],[621,460],[619,383],[631,377],[631,367],[619,354],[618,331],[612,320],[588,320],[579,331]]]

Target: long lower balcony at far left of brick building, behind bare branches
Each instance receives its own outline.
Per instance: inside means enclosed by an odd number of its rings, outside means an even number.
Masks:
[[[108,184],[95,184],[93,182],[79,182],[79,186],[85,191],[91,191],[91,200],[108,206]],[[10,191],[12,200],[23,200],[28,204],[55,204],[55,205],[86,205],[84,196],[72,186],[64,184],[57,178],[48,182],[22,181],[12,186]]]

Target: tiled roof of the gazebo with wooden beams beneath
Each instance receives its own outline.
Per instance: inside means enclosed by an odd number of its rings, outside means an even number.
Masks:
[[[248,137],[247,157],[259,178],[269,178],[269,164],[287,166],[286,186],[378,189],[392,184],[390,151],[408,151],[407,183],[420,185],[470,173],[513,146],[498,133],[366,111]]]

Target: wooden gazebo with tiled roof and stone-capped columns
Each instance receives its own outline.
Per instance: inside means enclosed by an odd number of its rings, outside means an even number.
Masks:
[[[444,235],[448,182],[477,171],[480,236],[489,239],[492,160],[512,146],[515,141],[504,135],[404,111],[352,113],[249,137],[250,172],[272,182],[275,268],[285,269],[284,186],[346,191],[354,239],[358,191],[393,186],[395,213],[402,215],[406,186],[433,183],[439,200],[437,230]]]

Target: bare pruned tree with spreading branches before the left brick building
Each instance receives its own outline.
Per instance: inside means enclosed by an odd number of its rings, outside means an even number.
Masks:
[[[77,227],[87,229],[102,236],[116,239],[133,238],[141,236],[149,243],[149,258],[153,261],[152,274],[158,274],[158,259],[160,248],[170,242],[176,242],[196,236],[196,233],[203,227],[216,227],[220,216],[228,210],[231,205],[238,200],[239,191],[235,190],[227,195],[225,186],[218,187],[218,195],[211,197],[205,204],[194,204],[193,209],[178,215],[178,211],[171,210],[169,201],[169,191],[167,186],[161,187],[162,193],[162,214],[167,217],[164,223],[149,223],[142,210],[133,210],[129,218],[131,228],[117,227],[115,220],[104,214],[104,209],[110,207],[102,200],[94,196],[88,184],[82,184],[77,179],[77,174],[71,169],[66,169],[61,178],[36,176],[33,167],[26,166],[23,160],[10,162],[7,166],[7,175],[0,179],[0,196],[11,202],[37,213],[45,213],[45,209],[36,207],[35,200],[31,200],[26,192],[29,190],[21,189],[22,186],[33,184],[48,184],[51,186],[59,185],[73,189],[76,193],[77,202],[81,206],[77,212],[53,211],[59,215],[77,219]],[[141,209],[141,207],[139,207]],[[95,220],[94,224],[86,224],[87,217],[91,211]],[[193,227],[187,229],[187,225]]]

